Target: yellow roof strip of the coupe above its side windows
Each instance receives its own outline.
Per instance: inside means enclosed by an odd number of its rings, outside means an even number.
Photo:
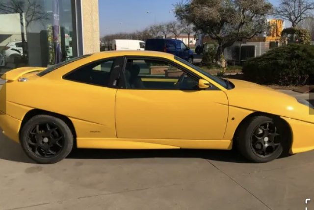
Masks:
[[[148,56],[148,57],[163,57],[168,59],[174,58],[173,54],[162,53],[158,51],[106,51],[101,53],[94,53],[91,56],[99,59],[118,56]]]

